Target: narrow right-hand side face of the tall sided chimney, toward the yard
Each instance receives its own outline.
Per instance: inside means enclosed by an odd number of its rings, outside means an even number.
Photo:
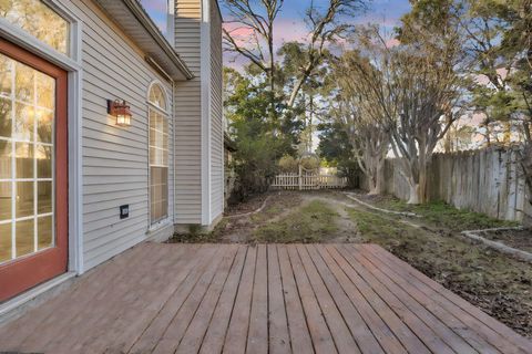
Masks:
[[[224,211],[222,66],[222,18],[211,0],[211,220]]]

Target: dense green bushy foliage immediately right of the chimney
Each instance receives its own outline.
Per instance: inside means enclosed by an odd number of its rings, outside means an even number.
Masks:
[[[236,145],[234,169],[237,176],[234,200],[265,191],[277,173],[277,162],[294,154],[299,125],[291,119],[272,119],[270,92],[262,75],[225,70],[226,117]],[[275,110],[283,111],[277,102]]]

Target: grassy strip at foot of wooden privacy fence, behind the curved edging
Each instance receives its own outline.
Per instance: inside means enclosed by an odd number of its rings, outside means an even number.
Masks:
[[[452,231],[519,226],[519,222],[515,221],[498,220],[484,214],[460,210],[443,201],[431,201],[413,206],[392,198],[379,200],[376,204],[381,208],[390,210],[415,212],[423,217],[422,221],[428,221],[436,227],[447,228]]]

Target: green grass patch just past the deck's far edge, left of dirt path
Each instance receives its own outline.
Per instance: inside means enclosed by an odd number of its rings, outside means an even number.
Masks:
[[[279,221],[258,227],[253,238],[255,242],[319,242],[337,231],[337,216],[326,202],[314,200]]]

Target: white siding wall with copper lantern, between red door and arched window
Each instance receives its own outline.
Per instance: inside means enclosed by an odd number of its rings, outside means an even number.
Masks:
[[[149,229],[149,125],[146,94],[160,80],[143,53],[91,1],[62,0],[82,21],[83,260],[90,269],[146,239]],[[117,127],[106,100],[131,105],[132,126]],[[172,119],[170,119],[172,134]],[[171,162],[173,160],[171,147]],[[170,215],[173,215],[173,166]],[[120,220],[119,206],[130,205]]]

